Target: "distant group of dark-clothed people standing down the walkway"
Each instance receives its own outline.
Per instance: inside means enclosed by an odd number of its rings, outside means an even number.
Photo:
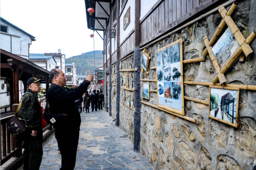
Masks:
[[[89,113],[89,108],[90,108],[90,104],[91,104],[91,108],[92,108],[92,112],[98,110],[102,110],[102,104],[104,101],[104,95],[102,93],[102,90],[93,90],[91,94],[88,94],[88,91],[85,92],[85,94],[83,95],[83,102],[82,102],[82,110],[84,112],[84,108],[86,113]]]

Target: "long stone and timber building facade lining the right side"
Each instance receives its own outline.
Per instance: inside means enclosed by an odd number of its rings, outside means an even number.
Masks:
[[[252,128],[256,125],[256,95],[239,84],[256,86],[252,76],[256,74],[256,40],[246,39],[249,35],[254,38],[256,28],[253,0],[85,0],[85,4],[88,28],[104,32],[105,108],[133,141],[135,151],[145,155],[157,170],[252,169],[256,160],[256,148],[251,147],[256,142]],[[95,10],[91,16],[88,8]],[[204,52],[222,34],[216,34],[216,30],[223,28],[222,24],[226,30],[231,20],[238,27],[233,35],[241,32],[251,43],[253,56],[246,60],[242,56],[225,72],[226,86],[243,89],[238,128],[209,116],[209,86],[222,85],[212,83],[216,68]],[[177,41],[182,44],[180,86],[184,90],[184,114],[158,101],[156,56],[160,54],[156,55],[156,51]],[[143,55],[149,59],[147,70],[142,70]],[[161,52],[161,56],[166,55]],[[144,85],[150,87],[145,90],[150,92],[148,98],[143,95]],[[162,87],[159,90],[165,95],[164,84]],[[170,89],[174,93],[174,88]]]

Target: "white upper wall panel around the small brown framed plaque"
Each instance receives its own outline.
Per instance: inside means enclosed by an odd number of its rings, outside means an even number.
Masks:
[[[124,30],[124,15],[128,10],[129,6],[130,6],[130,24]],[[121,12],[121,8],[120,8],[120,12]],[[134,28],[134,25],[135,25],[134,18],[135,18],[135,0],[128,0],[122,12],[122,15],[120,16],[120,43],[123,42],[124,38],[126,38],[126,36],[128,36],[128,34]]]

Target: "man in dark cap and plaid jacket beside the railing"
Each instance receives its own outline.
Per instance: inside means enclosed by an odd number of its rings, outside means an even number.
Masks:
[[[18,117],[26,120],[28,126],[28,132],[23,143],[24,170],[39,170],[43,156],[41,106],[37,99],[37,93],[40,92],[40,81],[34,77],[28,79],[28,89],[22,96],[22,103],[18,112]]]

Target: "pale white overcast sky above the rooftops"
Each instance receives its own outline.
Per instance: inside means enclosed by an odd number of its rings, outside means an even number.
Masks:
[[[30,53],[61,49],[69,58],[93,51],[93,31],[87,28],[84,0],[0,0],[0,15],[36,37]],[[94,36],[95,50],[102,50],[103,40],[97,32]]]

